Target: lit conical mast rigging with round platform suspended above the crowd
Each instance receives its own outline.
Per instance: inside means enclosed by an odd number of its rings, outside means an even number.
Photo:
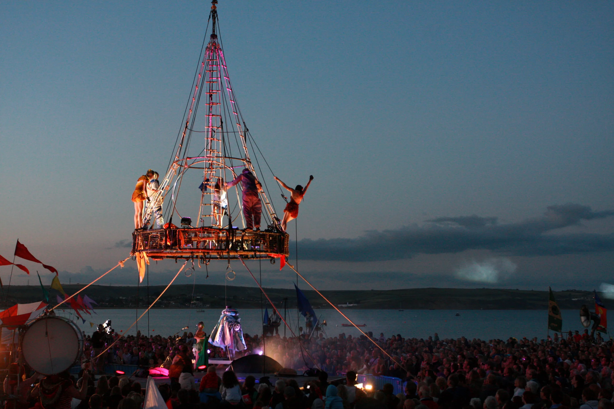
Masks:
[[[245,228],[239,185],[228,188],[228,207],[220,208],[219,186],[236,178],[243,169],[249,169],[255,177],[258,177],[258,173],[262,174],[256,171],[256,167],[261,170],[256,155],[262,155],[262,152],[249,133],[236,102],[219,38],[217,0],[211,3],[211,35],[204,53],[201,50],[202,59],[195,74],[193,91],[186,106],[173,157],[165,177],[160,180],[158,191],[150,197],[144,208],[142,228],[133,233],[132,252],[145,253],[153,259],[288,256],[289,236],[281,229],[273,204],[268,199],[270,195],[266,192],[266,183],[265,188],[259,192],[263,222],[267,225],[264,231]],[[204,115],[197,115],[201,114],[203,107]],[[200,123],[202,118],[204,122]],[[200,131],[196,130],[197,125],[201,127]],[[204,143],[195,143],[195,140],[199,140],[198,136],[204,136],[201,139]],[[233,142],[236,143],[234,147]],[[256,167],[252,163],[248,146],[252,150]],[[262,157],[262,160],[266,163],[266,159]],[[203,171],[196,226],[192,226],[191,218],[181,217],[177,210],[179,190],[186,172],[191,169]],[[153,210],[161,201],[165,202],[169,223],[163,229],[148,229],[153,221]],[[234,207],[231,201],[234,201]],[[171,223],[175,214],[181,217],[181,227]],[[224,223],[225,219],[227,223]],[[233,222],[243,224],[243,229],[233,226]]]

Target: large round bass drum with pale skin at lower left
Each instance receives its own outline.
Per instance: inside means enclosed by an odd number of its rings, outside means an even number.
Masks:
[[[79,361],[83,335],[77,324],[61,316],[44,316],[26,329],[21,341],[23,359],[36,372],[54,375]]]

